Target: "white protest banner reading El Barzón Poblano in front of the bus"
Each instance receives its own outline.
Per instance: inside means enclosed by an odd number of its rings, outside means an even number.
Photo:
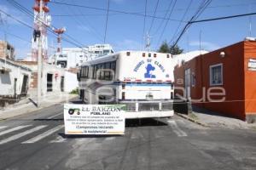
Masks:
[[[124,134],[125,105],[64,105],[65,134]]]

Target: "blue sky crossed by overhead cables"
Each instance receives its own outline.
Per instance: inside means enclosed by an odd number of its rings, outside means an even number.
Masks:
[[[22,6],[32,11],[32,0],[15,0]],[[97,8],[107,8],[107,0],[55,0],[55,2],[73,3],[79,5],[86,5]],[[168,12],[168,5],[171,0],[160,0],[156,11],[156,16],[164,17],[166,11]],[[149,32],[151,36],[151,48],[153,50],[159,48],[160,42],[166,40],[170,42],[177,26],[183,18],[185,9],[188,8],[190,0],[177,0],[177,3],[171,14],[171,19],[167,23],[166,30],[163,27],[166,21],[155,19],[152,29]],[[147,14],[154,15],[154,8],[157,0],[148,0]],[[200,5],[201,0],[192,0],[188,13],[184,20],[189,20],[192,14]],[[5,12],[14,15],[19,20],[26,22],[32,26],[32,19],[26,14],[20,12],[19,9],[12,6],[6,0],[0,0],[0,8]],[[110,0],[110,8],[131,13],[144,14],[145,0]],[[86,45],[102,43],[104,39],[106,11],[99,11],[89,8],[78,8],[56,3],[49,3],[50,13],[52,14],[52,25],[55,27],[67,28],[67,34],[72,36],[78,42]],[[255,0],[212,0],[212,3],[206,8],[198,20],[215,18],[220,16],[246,14],[256,11]],[[81,15],[83,14],[83,15]],[[168,13],[167,13],[168,14]],[[68,16],[63,16],[68,15]],[[79,15],[79,16],[74,16]],[[2,14],[3,18],[6,17]],[[31,41],[32,30],[20,23],[7,18],[7,23],[0,25],[0,39],[4,39],[3,31],[17,35]],[[133,49],[141,50],[143,37],[143,16],[131,14],[118,14],[109,12],[108,17],[108,31],[106,42],[110,43],[115,51]],[[256,37],[256,16],[251,17],[252,23],[252,37]],[[163,23],[160,25],[160,23]],[[152,18],[146,17],[145,33],[149,31],[152,23]],[[183,28],[185,23],[182,23],[179,30]],[[183,35],[178,45],[185,51],[199,49],[199,35],[201,31],[201,47],[206,50],[214,50],[235,42],[240,42],[244,37],[249,36],[249,17],[241,17],[230,20],[218,20],[207,23],[197,23],[189,27],[189,30]],[[160,38],[161,32],[163,36]],[[16,58],[24,58],[26,54],[31,51],[31,44],[29,42],[20,40],[17,37],[7,34],[7,40],[15,46]],[[49,45],[56,46],[56,38],[49,34]],[[68,42],[62,42],[63,47],[74,47]],[[53,49],[49,48],[49,52]]]

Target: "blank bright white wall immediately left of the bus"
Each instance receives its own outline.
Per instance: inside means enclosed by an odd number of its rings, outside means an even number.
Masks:
[[[64,91],[69,93],[75,88],[79,88],[79,81],[77,79],[77,74],[69,71],[65,71]]]

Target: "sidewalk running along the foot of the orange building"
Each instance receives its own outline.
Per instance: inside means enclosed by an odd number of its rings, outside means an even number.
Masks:
[[[189,115],[177,113],[178,116],[189,121],[201,124],[205,127],[226,127],[231,129],[256,129],[256,123],[247,123],[233,117],[224,116],[216,112],[207,111],[193,107],[193,112]]]

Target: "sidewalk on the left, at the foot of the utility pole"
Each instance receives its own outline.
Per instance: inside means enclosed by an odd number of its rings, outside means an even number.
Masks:
[[[49,93],[45,96],[41,97],[41,105],[38,108],[36,106],[37,96],[32,96],[31,98],[26,98],[20,100],[20,102],[14,105],[8,105],[7,107],[0,110],[0,120],[8,119],[14,116],[20,116],[26,113],[30,113],[32,111],[38,111],[45,107],[49,107],[51,105],[56,105],[61,102],[68,102],[69,99],[73,99],[78,97],[77,94],[67,94],[67,93]]]

